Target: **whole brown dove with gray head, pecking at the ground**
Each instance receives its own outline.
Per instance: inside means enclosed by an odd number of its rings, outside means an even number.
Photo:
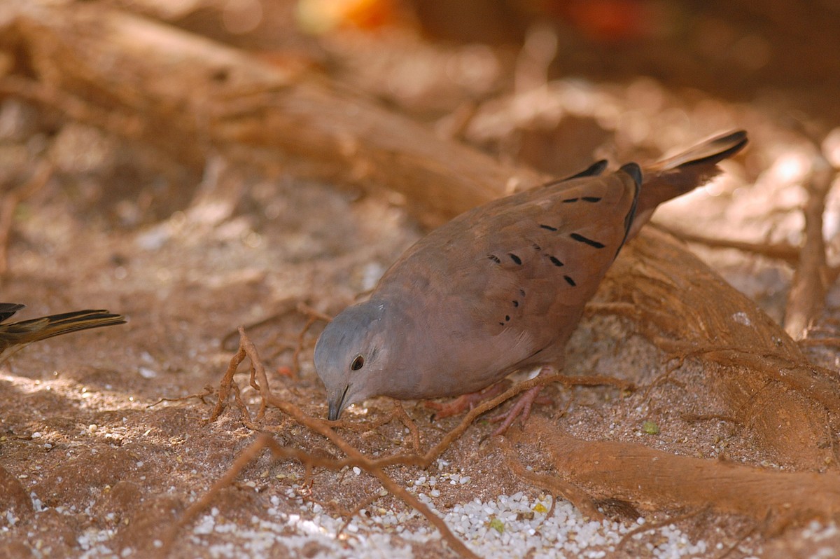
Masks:
[[[660,204],[715,177],[747,143],[707,140],[644,170],[606,161],[471,209],[412,245],[315,347],[329,419],[373,396],[475,393],[563,367],[566,342],[622,245]],[[527,418],[538,388],[511,410]]]

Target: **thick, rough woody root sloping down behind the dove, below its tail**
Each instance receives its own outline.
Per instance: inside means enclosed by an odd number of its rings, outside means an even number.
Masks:
[[[837,373],[811,365],[778,324],[667,235],[650,231],[627,245],[597,297],[591,312],[633,320],[677,367],[710,364],[679,382],[713,396],[715,413],[747,425],[780,463],[817,470],[833,461],[825,437],[840,421]]]

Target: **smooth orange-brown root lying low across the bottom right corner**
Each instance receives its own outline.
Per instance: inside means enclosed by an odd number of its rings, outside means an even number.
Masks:
[[[710,509],[756,522],[770,518],[771,532],[840,515],[836,472],[778,472],[625,442],[580,440],[540,417],[531,419],[527,432],[552,456],[559,477],[595,498],[619,498],[645,510]]]

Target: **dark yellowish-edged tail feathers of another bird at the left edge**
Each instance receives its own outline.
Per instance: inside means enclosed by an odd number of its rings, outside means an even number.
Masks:
[[[6,320],[25,306],[19,303],[0,303],[0,323],[4,323],[0,324],[0,361],[5,361],[15,351],[34,341],[78,330],[125,323],[125,317],[120,314],[88,309],[5,324]]]

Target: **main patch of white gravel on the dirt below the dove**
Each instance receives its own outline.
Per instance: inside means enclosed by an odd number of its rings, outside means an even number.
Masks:
[[[429,480],[419,479],[416,487]],[[417,493],[424,503],[441,514],[434,506],[434,499],[426,493]],[[209,556],[218,558],[268,557],[275,541],[282,541],[292,555],[303,553],[303,546],[317,541],[321,546],[312,557],[370,557],[377,559],[402,559],[413,557],[411,546],[394,545],[393,535],[402,541],[439,541],[438,532],[429,525],[409,531],[404,523],[420,515],[415,511],[381,509],[375,505],[357,516],[336,538],[344,519],[326,514],[318,504],[304,502],[290,489],[287,498],[297,499],[301,514],[286,514],[277,509],[281,499],[272,497],[273,506],[267,514],[273,520],[252,519],[250,528],[243,528],[217,520],[218,510],[211,510],[192,530],[192,541],[205,547]],[[549,516],[551,498],[529,499],[525,493],[501,495],[495,500],[482,502],[476,498],[459,504],[442,515],[449,528],[470,546],[476,554],[485,557],[522,557],[528,551],[535,559],[541,557],[606,557],[616,550],[622,535],[637,524],[623,525],[611,521],[595,522],[581,516],[570,503],[559,500],[554,513]],[[370,515],[368,515],[370,514]],[[643,524],[643,519],[638,520]],[[289,535],[289,530],[295,532]],[[213,532],[235,534],[239,545],[225,543],[215,546]],[[665,526],[650,533],[634,537],[657,541],[647,545],[647,556],[661,558],[704,556],[705,541],[690,541],[674,526]]]

